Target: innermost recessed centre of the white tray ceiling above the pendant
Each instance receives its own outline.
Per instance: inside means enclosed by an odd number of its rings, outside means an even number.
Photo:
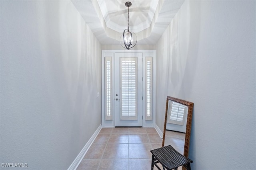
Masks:
[[[122,33],[127,29],[127,0],[97,0],[106,26],[114,31]],[[158,0],[130,0],[129,26],[131,31],[138,33],[150,27]]]

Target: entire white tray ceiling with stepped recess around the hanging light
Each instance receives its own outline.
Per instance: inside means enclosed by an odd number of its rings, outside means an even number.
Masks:
[[[96,38],[103,45],[120,44],[127,29],[136,33],[137,44],[154,45],[182,6],[184,0],[71,0]]]

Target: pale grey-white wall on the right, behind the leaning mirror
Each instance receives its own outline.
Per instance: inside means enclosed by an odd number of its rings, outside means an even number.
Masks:
[[[166,96],[194,102],[192,169],[256,169],[255,11],[255,1],[185,1],[156,45],[156,124]]]

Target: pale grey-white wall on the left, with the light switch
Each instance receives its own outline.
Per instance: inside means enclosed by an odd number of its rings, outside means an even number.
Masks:
[[[0,163],[67,169],[101,123],[100,43],[70,1],[1,0],[0,46]]]

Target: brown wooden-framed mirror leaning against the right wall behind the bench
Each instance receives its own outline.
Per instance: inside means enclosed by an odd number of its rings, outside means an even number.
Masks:
[[[194,103],[167,96],[162,147],[172,145],[188,157]],[[183,153],[182,153],[182,147]]]

